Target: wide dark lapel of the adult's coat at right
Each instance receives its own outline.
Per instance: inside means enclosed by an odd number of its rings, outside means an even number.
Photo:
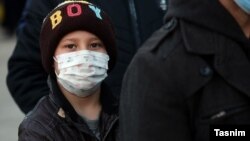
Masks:
[[[211,64],[215,71],[231,86],[250,97],[250,62],[245,50],[245,47],[250,48],[249,41],[237,42],[185,21],[180,21],[180,27],[187,52],[204,58],[212,56]]]

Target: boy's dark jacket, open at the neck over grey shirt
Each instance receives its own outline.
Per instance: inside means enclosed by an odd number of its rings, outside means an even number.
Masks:
[[[20,124],[19,141],[97,141],[84,120],[75,112],[55,80],[50,81],[51,94],[44,96]],[[115,141],[118,137],[117,100],[101,87],[101,141]]]

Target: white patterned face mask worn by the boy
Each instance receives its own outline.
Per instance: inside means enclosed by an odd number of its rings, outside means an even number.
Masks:
[[[69,92],[86,97],[100,87],[107,77],[109,56],[105,53],[82,50],[54,57],[58,63],[58,82]]]

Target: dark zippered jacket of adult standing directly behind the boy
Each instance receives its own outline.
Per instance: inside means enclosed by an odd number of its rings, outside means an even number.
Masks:
[[[106,11],[114,23],[118,60],[105,81],[117,97],[124,72],[139,45],[163,25],[164,1],[90,0]],[[18,27],[17,44],[8,62],[7,86],[24,113],[49,91],[38,39],[44,17],[60,2],[62,0],[28,0]]]

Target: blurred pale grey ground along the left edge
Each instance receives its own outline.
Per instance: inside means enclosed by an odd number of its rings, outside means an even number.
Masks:
[[[15,36],[6,36],[0,28],[0,141],[17,141],[18,126],[24,118],[6,86],[7,61],[15,43]]]

